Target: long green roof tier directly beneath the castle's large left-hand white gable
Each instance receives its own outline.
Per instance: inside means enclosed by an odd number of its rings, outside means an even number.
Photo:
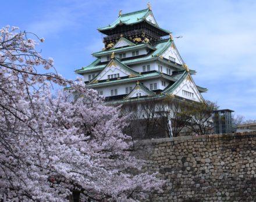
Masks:
[[[88,88],[95,88],[98,86],[106,86],[106,85],[115,85],[115,84],[122,84],[130,81],[142,81],[142,80],[148,80],[151,78],[166,78],[170,81],[176,81],[174,78],[170,77],[166,74],[161,74],[159,72],[154,73],[148,73],[148,74],[141,74],[139,77],[131,77],[131,78],[121,78],[120,80],[113,80],[113,81],[105,81],[105,82],[98,82],[96,84],[88,84]]]

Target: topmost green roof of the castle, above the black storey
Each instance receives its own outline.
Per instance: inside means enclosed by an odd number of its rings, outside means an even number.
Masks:
[[[126,13],[126,14],[120,15],[118,17],[118,19],[116,19],[112,24],[109,24],[108,26],[105,26],[105,27],[98,28],[98,31],[110,30],[110,29],[115,28],[116,26],[118,26],[118,24],[130,25],[130,24],[140,23],[141,21],[144,21],[145,18],[148,15],[150,15],[150,13],[152,14],[151,10],[144,9],[144,10],[138,10],[136,12],[131,12],[131,13]],[[156,28],[159,28],[158,24],[152,24],[150,22],[148,22],[148,23],[151,24],[152,26],[156,27]],[[170,33],[170,31],[164,30],[162,28],[159,28],[159,30],[164,31],[166,34]]]

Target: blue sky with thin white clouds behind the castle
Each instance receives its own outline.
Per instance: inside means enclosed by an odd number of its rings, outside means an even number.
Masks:
[[[58,73],[93,61],[106,26],[122,13],[147,8],[148,1],[2,1],[0,26],[20,27],[45,38],[44,57],[53,57]],[[160,27],[172,31],[175,44],[195,83],[208,88],[205,99],[246,119],[256,119],[256,1],[150,1]]]

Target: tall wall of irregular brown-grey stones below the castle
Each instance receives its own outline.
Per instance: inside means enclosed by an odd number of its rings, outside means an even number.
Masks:
[[[135,155],[166,180],[149,201],[256,201],[256,131],[140,140]]]

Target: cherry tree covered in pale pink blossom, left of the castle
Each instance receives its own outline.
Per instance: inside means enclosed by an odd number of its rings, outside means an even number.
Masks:
[[[136,201],[159,192],[163,181],[130,154],[120,108],[80,80],[38,73],[54,70],[35,50],[44,39],[17,29],[0,30],[0,199]],[[52,84],[70,88],[53,96]]]

